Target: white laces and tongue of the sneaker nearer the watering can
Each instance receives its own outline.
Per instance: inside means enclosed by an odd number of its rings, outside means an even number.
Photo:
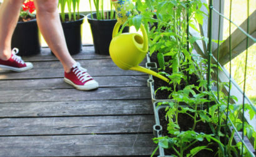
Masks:
[[[75,63],[73,65],[73,72],[74,74],[76,74],[76,76],[78,77],[79,81],[81,81],[82,83],[84,83],[85,81],[91,79],[90,74],[86,73],[86,69],[82,68],[80,63]]]

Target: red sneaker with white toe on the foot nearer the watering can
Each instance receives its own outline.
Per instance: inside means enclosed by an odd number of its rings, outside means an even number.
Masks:
[[[75,63],[69,73],[64,73],[64,81],[79,90],[91,90],[99,87],[99,84],[82,68]]]

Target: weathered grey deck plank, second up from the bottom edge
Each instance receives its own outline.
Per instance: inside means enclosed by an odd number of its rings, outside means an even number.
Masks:
[[[153,115],[0,119],[1,136],[151,133]]]

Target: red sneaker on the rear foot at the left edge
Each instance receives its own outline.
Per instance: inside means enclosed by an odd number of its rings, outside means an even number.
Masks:
[[[9,58],[7,61],[0,59],[0,68],[9,69],[16,72],[26,71],[33,68],[32,63],[24,62],[20,56],[16,55],[19,53],[19,49],[14,48],[11,52],[11,58]]]

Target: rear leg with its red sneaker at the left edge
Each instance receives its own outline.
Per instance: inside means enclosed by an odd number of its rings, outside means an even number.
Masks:
[[[18,49],[11,50],[11,38],[19,19],[19,11],[24,0],[5,0],[0,6],[0,68],[13,71],[26,71],[33,64],[25,63],[16,56]]]

